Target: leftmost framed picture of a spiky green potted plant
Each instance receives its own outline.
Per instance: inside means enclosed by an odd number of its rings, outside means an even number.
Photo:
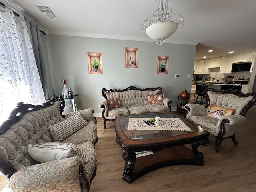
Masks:
[[[103,74],[102,53],[87,53],[89,74]]]

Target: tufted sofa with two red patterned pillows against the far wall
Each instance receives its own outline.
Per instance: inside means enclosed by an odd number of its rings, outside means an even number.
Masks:
[[[164,98],[161,87],[140,89],[130,86],[123,90],[103,88],[101,93],[105,98],[99,104],[99,108],[103,109],[104,129],[106,129],[106,121],[114,122],[119,115],[172,110],[172,100]]]

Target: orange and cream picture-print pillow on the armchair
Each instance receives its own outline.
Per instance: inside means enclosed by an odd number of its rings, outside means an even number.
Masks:
[[[222,116],[233,115],[235,111],[235,109],[224,108],[211,104],[207,115],[219,119]]]

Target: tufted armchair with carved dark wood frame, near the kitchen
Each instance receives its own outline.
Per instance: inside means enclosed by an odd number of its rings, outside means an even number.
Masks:
[[[231,138],[237,145],[236,129],[246,121],[246,112],[256,102],[256,92],[243,94],[234,88],[222,91],[206,88],[204,98],[206,106],[186,104],[184,117],[215,136],[216,152],[226,138]]]

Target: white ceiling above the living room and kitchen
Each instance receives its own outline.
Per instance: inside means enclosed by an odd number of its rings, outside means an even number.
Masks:
[[[8,1],[47,34],[154,42],[141,32],[141,24],[156,10],[155,0]],[[56,17],[50,19],[35,5],[48,6]],[[172,0],[171,8],[185,24],[166,42],[197,45],[195,59],[256,50],[255,0]]]

